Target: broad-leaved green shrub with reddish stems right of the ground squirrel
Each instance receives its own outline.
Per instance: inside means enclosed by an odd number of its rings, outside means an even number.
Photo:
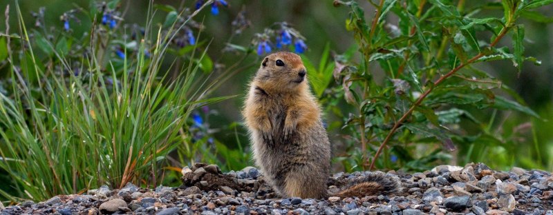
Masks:
[[[357,112],[346,116],[344,125],[353,134],[348,147],[355,156],[337,158],[348,170],[424,170],[451,158],[442,149],[458,149],[467,162],[482,161],[496,146],[516,151],[516,130],[491,130],[497,110],[539,118],[476,64],[508,60],[519,72],[525,61],[539,64],[524,55],[525,28],[517,20],[543,17],[534,9],[551,1],[503,0],[465,8],[465,1],[382,0],[370,22],[356,1],[334,3],[350,8],[346,28],[357,43],[336,58],[334,72],[337,98]],[[482,17],[488,8],[503,10],[503,17]],[[510,49],[500,43],[509,34]],[[487,121],[473,116],[487,108],[493,110]]]

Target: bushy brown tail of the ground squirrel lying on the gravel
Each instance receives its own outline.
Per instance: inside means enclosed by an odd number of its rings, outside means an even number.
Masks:
[[[332,196],[346,197],[364,197],[375,196],[378,194],[397,194],[402,191],[400,178],[384,172],[369,172],[362,178],[357,178],[350,182],[348,186]]]

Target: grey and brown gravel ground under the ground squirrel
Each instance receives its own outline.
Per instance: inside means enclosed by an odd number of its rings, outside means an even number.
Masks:
[[[498,172],[478,163],[391,171],[401,178],[402,193],[327,199],[278,198],[254,167],[223,174],[216,165],[198,163],[182,172],[181,187],[104,186],[86,195],[0,205],[0,214],[553,214],[551,173],[518,167]],[[335,174],[328,187],[337,190],[366,174]]]

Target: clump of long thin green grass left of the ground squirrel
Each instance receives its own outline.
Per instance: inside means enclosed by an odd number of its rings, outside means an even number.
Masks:
[[[205,99],[215,82],[201,81],[200,64],[192,63],[202,61],[205,51],[193,50],[176,80],[160,71],[168,41],[182,25],[163,36],[161,29],[151,31],[155,28],[149,23],[146,35],[156,37],[151,55],[145,54],[145,39],[134,59],[125,54],[121,75],[116,75],[112,61],[104,68],[96,54],[82,57],[79,71],[86,72],[73,75],[76,71],[53,44],[46,45],[56,55],[49,62],[55,66],[41,64],[17,9],[20,42],[28,48],[14,52],[25,56],[19,60],[21,67],[15,63],[17,56],[10,55],[13,94],[0,94],[0,168],[10,174],[19,198],[40,201],[127,182],[159,185],[161,162],[178,145],[187,144],[182,128],[191,111],[228,98]],[[90,50],[96,48],[91,43]],[[17,201],[12,194],[1,194]]]

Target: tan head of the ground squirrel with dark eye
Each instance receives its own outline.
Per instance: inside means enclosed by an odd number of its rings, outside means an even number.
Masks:
[[[292,52],[269,54],[261,61],[255,79],[261,88],[294,90],[307,86],[307,70]]]

